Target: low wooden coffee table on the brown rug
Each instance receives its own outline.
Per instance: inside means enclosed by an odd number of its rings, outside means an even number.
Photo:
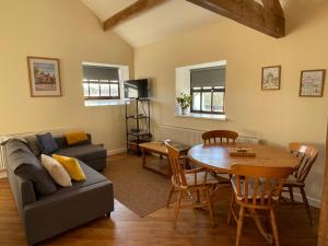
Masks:
[[[174,141],[172,142],[172,145],[180,151],[181,156],[187,155],[188,150],[190,149],[190,147],[188,147],[186,144],[174,142]],[[167,154],[165,143],[163,141],[141,143],[141,144],[139,144],[139,148],[141,149],[141,153],[142,153],[142,167],[149,168],[149,169],[154,171],[162,175],[166,175],[167,177],[172,176],[172,169],[171,169],[171,165],[169,165],[169,161],[168,161],[168,154]],[[147,157],[145,157],[147,153],[159,154],[160,159],[157,160],[157,163],[153,163],[153,165],[149,165],[149,163],[147,162]],[[165,171],[163,172],[161,168],[159,168],[161,164],[163,165],[163,156],[165,156],[166,172]]]

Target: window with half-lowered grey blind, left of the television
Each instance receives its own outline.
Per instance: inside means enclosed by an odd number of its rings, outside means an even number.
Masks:
[[[83,65],[84,99],[119,99],[118,68]]]

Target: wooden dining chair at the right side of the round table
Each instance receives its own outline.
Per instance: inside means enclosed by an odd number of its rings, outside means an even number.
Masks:
[[[312,219],[308,200],[305,192],[305,179],[311,172],[313,164],[318,156],[318,150],[314,147],[302,144],[300,142],[291,142],[289,144],[290,152],[298,159],[298,165],[292,175],[285,180],[282,192],[289,192],[292,206],[304,204],[311,224],[314,224]],[[302,195],[303,202],[295,202],[293,188],[298,188]],[[288,202],[285,202],[288,203]]]

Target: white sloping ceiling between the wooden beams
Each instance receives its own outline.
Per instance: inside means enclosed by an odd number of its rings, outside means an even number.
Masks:
[[[137,0],[81,1],[104,22]],[[256,1],[261,3],[261,0]],[[285,7],[288,0],[280,1],[282,7]],[[113,31],[132,47],[140,47],[220,20],[224,20],[224,17],[186,0],[167,0],[167,2],[118,24]]]

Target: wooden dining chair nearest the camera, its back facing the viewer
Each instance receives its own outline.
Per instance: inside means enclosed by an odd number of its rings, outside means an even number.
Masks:
[[[259,232],[268,241],[259,215],[260,211],[268,211],[273,232],[273,242],[279,246],[278,226],[274,214],[274,204],[279,202],[280,194],[285,178],[293,172],[291,167],[263,167],[249,165],[232,166],[233,195],[229,209],[227,223],[233,218],[237,223],[236,246],[241,245],[243,220],[245,215],[250,215]],[[237,212],[236,210],[239,209]]]

